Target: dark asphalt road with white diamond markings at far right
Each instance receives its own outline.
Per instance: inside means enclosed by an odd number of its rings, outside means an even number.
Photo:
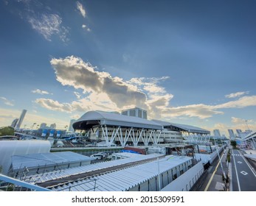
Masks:
[[[232,149],[231,191],[256,191],[256,174],[238,149]]]

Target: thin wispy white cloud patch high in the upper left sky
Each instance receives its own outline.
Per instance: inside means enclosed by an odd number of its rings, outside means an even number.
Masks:
[[[42,14],[39,17],[31,15],[28,17],[33,29],[43,35],[46,40],[51,41],[52,35],[58,35],[60,40],[66,42],[69,40],[67,35],[69,30],[62,26],[62,19],[57,14]]]

